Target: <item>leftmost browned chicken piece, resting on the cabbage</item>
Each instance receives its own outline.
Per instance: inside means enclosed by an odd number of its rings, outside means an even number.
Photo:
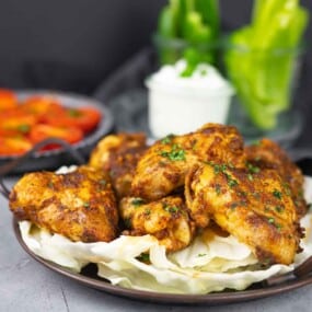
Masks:
[[[72,241],[109,242],[118,234],[118,209],[109,177],[80,166],[68,174],[25,174],[10,194],[19,220]]]

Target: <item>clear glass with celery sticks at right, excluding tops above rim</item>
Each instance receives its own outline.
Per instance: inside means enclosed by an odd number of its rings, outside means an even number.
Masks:
[[[293,103],[304,45],[257,50],[224,43],[224,71],[236,91],[229,123],[250,139],[297,138],[301,118]]]

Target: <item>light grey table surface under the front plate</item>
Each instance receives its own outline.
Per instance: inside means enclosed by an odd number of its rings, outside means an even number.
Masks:
[[[8,186],[15,178],[5,180]],[[0,311],[311,311],[312,285],[282,294],[218,307],[155,304],[119,298],[80,285],[33,259],[18,243],[12,215],[0,197]]]

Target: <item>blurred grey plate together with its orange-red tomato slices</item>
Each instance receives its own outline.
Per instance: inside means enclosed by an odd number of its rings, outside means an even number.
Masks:
[[[103,103],[54,91],[1,89],[0,119],[0,164],[21,157],[47,138],[61,139],[88,154],[113,128],[113,115]],[[57,167],[68,157],[60,146],[45,146],[16,171]]]

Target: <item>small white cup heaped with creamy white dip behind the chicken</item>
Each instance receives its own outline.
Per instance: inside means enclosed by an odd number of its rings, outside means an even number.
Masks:
[[[162,66],[147,80],[148,122],[153,138],[183,135],[206,123],[226,124],[234,90],[220,72],[199,63],[183,77],[186,61]]]

